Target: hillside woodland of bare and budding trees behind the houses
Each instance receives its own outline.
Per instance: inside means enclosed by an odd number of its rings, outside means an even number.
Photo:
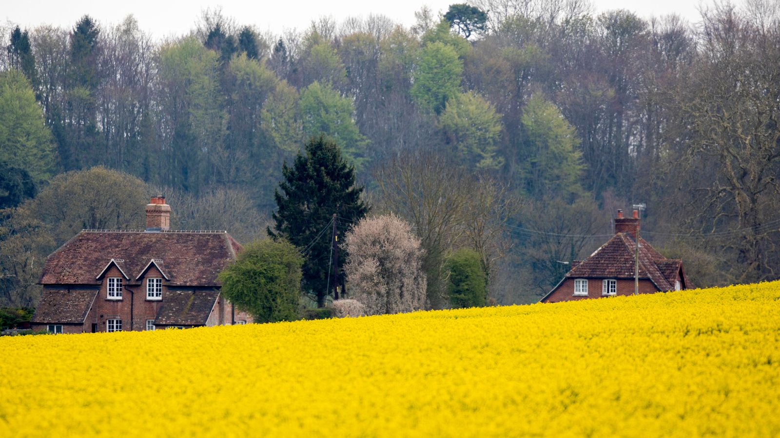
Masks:
[[[80,229],[143,228],[150,195],[173,228],[263,238],[314,136],[369,216],[410,224],[425,269],[476,252],[489,303],[536,302],[638,203],[695,285],[778,277],[778,2],[707,3],[695,23],[583,0],[414,15],[270,34],[207,10],[162,40],[133,16],[0,25],[0,306],[34,306]]]

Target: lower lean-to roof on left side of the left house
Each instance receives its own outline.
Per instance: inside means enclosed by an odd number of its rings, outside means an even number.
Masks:
[[[41,302],[35,308],[34,323],[84,322],[97,295],[94,289],[44,289]]]

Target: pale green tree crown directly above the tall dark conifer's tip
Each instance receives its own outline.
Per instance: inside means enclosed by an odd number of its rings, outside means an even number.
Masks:
[[[341,147],[342,154],[360,169],[367,140],[353,119],[353,104],[327,84],[311,83],[300,93],[303,134],[307,138],[324,134]]]

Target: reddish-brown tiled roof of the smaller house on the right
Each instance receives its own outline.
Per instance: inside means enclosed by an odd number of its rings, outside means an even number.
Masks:
[[[633,278],[635,242],[627,233],[618,233],[587,259],[576,264],[566,277]],[[644,238],[640,238],[639,277],[652,281],[659,291],[674,288],[682,267],[681,260],[669,260],[658,253]]]

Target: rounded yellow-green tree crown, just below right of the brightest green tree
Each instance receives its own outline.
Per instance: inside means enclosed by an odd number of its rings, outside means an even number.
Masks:
[[[470,91],[450,99],[439,124],[461,160],[481,169],[496,169],[504,164],[504,158],[496,155],[501,119],[479,94]]]

